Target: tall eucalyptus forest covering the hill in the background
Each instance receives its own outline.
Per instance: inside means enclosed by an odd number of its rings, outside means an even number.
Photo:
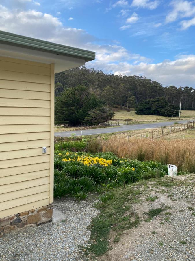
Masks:
[[[146,100],[164,97],[168,105],[179,108],[182,97],[181,109],[195,110],[195,89],[192,87],[163,87],[146,77],[105,74],[85,66],[55,74],[55,96],[78,85],[86,86],[107,107],[138,108]]]

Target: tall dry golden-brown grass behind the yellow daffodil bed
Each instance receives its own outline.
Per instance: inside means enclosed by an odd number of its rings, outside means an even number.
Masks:
[[[137,160],[157,160],[163,164],[174,164],[178,170],[195,173],[195,140],[130,139],[113,136],[102,141],[103,152],[113,152],[118,157]]]

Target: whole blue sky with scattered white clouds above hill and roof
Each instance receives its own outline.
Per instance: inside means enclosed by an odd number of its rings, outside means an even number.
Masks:
[[[96,51],[87,66],[195,87],[195,1],[2,0],[0,30]]]

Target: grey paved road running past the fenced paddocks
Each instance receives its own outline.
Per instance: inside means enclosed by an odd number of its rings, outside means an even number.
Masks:
[[[185,121],[177,121],[179,123],[186,123]],[[175,121],[168,122],[155,122],[155,123],[144,123],[144,124],[136,124],[136,125],[123,125],[117,127],[108,127],[108,128],[98,128],[98,129],[90,129],[83,130],[82,136],[84,135],[95,135],[95,134],[103,134],[103,133],[112,133],[118,131],[131,131],[131,130],[141,130],[147,128],[161,128],[163,126],[173,125]],[[55,132],[55,136],[60,137],[70,137],[71,134],[75,134],[75,136],[81,136],[81,131],[66,131],[66,132]]]

